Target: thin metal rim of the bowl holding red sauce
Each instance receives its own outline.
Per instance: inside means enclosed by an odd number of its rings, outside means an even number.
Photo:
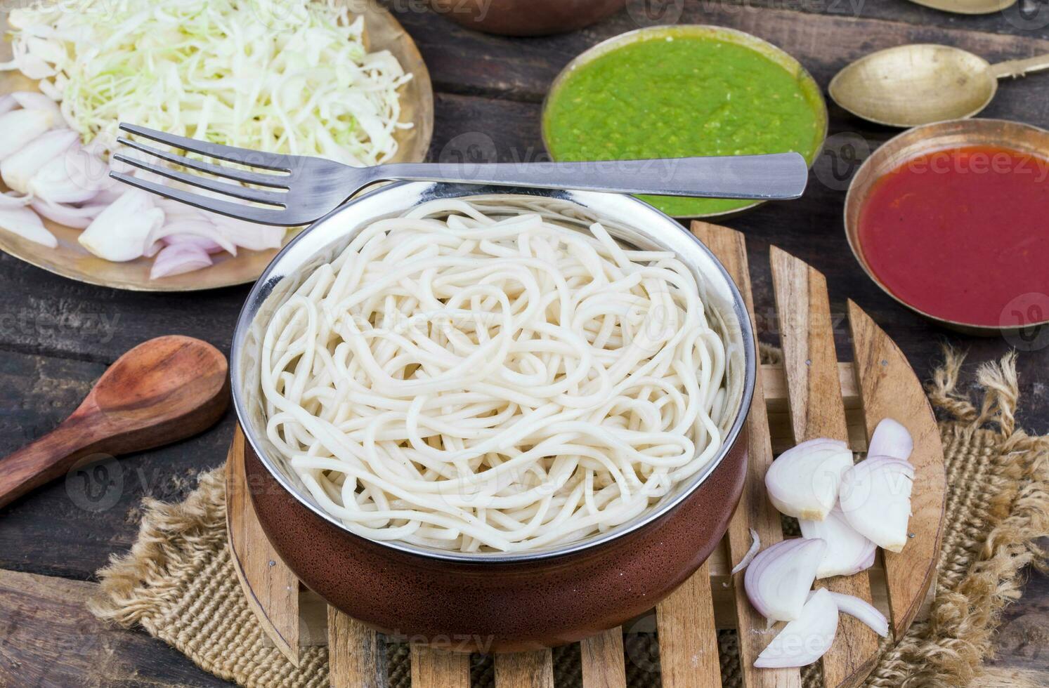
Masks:
[[[979,128],[979,127],[986,127],[986,126],[1016,127],[1016,128],[1020,128],[1020,129],[1029,130],[1032,133],[1039,133],[1039,134],[1045,135],[1045,136],[1049,136],[1049,130],[1043,129],[1042,127],[1035,127],[1034,125],[1024,124],[1022,122],[1011,122],[1009,120],[996,120],[996,119],[991,119],[991,117],[961,117],[961,119],[958,119],[958,120],[944,120],[943,122],[933,122],[933,123],[924,124],[924,125],[921,125],[921,126],[918,126],[918,127],[913,127],[911,129],[907,129],[905,131],[901,131],[900,133],[896,134],[895,136],[893,136],[892,138],[890,138],[889,141],[886,141],[884,144],[882,144],[881,146],[879,146],[878,149],[874,153],[872,153],[870,156],[868,156],[868,158],[865,160],[863,160],[863,164],[859,166],[859,169],[856,170],[856,173],[853,175],[852,180],[849,182],[849,189],[845,192],[844,208],[841,211],[841,216],[842,216],[841,219],[842,219],[842,227],[844,228],[844,232],[845,232],[845,240],[849,242],[849,249],[850,249],[850,251],[852,251],[853,257],[856,259],[856,262],[859,263],[859,266],[863,270],[863,273],[871,279],[871,281],[874,282],[878,286],[878,288],[881,289],[884,294],[886,294],[891,299],[893,299],[894,301],[896,301],[900,305],[908,308],[909,310],[913,310],[914,313],[917,313],[922,318],[925,318],[927,320],[932,320],[933,322],[936,322],[936,323],[938,323],[940,325],[943,325],[945,327],[948,327],[948,328],[951,328],[951,329],[955,329],[955,330],[961,330],[963,332],[972,332],[972,334],[977,334],[977,335],[999,335],[999,334],[1005,334],[1005,332],[1015,331],[1015,330],[1021,329],[1021,328],[1043,327],[1043,326],[1049,325],[1049,318],[1047,318],[1046,320],[1039,321],[1036,323],[1029,323],[1029,324],[1026,324],[1026,325],[975,325],[972,323],[962,322],[962,321],[959,321],[959,320],[950,320],[949,318],[941,318],[940,316],[934,316],[933,314],[927,313],[925,310],[922,310],[918,306],[913,305],[913,304],[904,301],[902,298],[900,298],[896,294],[894,294],[893,291],[890,289],[889,286],[884,282],[881,281],[881,278],[879,278],[877,275],[874,274],[874,271],[871,270],[871,266],[868,264],[866,259],[863,257],[863,252],[862,252],[862,250],[859,246],[858,218],[857,218],[857,227],[855,228],[855,232],[853,232],[852,223],[849,221],[849,209],[852,207],[853,196],[856,193],[858,193],[856,191],[856,186],[857,186],[856,185],[856,180],[857,179],[861,179],[863,177],[863,175],[869,172],[869,168],[874,167],[874,165],[876,164],[876,162],[872,162],[872,160],[875,160],[876,156],[879,153],[883,153],[884,155],[894,155],[895,153],[891,152],[891,151],[892,151],[893,147],[899,145],[900,141],[903,141],[903,139],[905,139],[907,137],[911,137],[911,136],[919,136],[919,135],[923,134],[925,131],[927,131],[928,129],[943,128],[943,127],[947,127],[947,126],[957,126],[957,127],[960,127],[960,128],[963,128],[963,129],[965,127]],[[962,145],[964,145],[964,144],[962,144]],[[979,145],[979,142],[975,143],[973,145]],[[899,162],[899,165],[903,165],[907,160],[911,160],[911,159],[917,157],[918,155],[935,153],[935,152],[941,151],[941,150],[949,150],[951,148],[957,148],[958,146],[959,146],[959,144],[951,144],[949,146],[938,146],[938,145],[934,144],[934,145],[929,146],[928,148],[924,149],[923,151],[915,152],[915,153],[908,155],[907,157],[901,158],[900,162]],[[1018,150],[1018,151],[1022,151],[1023,150],[1022,147],[1020,147],[1020,146],[1013,146],[1012,148],[1013,148],[1013,150]],[[881,177],[877,177],[877,178],[881,178]],[[877,178],[873,179],[871,181],[871,185],[873,185],[875,181],[877,181]],[[870,192],[868,192],[868,193],[870,193]],[[855,201],[855,202],[859,202],[860,203],[860,208],[862,208],[862,200]],[[856,238],[855,239],[853,239],[853,234],[856,234]]]

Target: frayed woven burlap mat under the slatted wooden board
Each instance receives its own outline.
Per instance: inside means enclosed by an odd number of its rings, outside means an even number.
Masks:
[[[883,654],[869,686],[969,684],[990,650],[1003,607],[1020,597],[1021,569],[1044,566],[1035,539],[1049,535],[1049,437],[1015,428],[1016,375],[1012,357],[977,373],[978,407],[956,392],[961,357],[948,352],[928,386],[941,414],[947,461],[947,518],[936,600],[927,621],[915,623]],[[144,502],[130,554],[100,572],[103,595],[91,602],[102,619],[138,625],[184,652],[202,669],[251,688],[327,686],[327,650],[304,650],[295,668],[263,642],[227,550],[222,470],[200,476],[177,504]],[[726,686],[740,685],[735,632],[719,636]],[[625,637],[630,686],[659,686],[658,642],[651,632]],[[408,650],[388,644],[389,685],[408,688]],[[558,686],[580,683],[578,646],[554,652]],[[471,662],[474,687],[492,686],[490,658]],[[818,668],[805,670],[817,685]]]

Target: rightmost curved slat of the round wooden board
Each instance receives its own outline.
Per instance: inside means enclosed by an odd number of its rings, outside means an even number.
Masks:
[[[936,416],[921,382],[899,348],[863,310],[849,302],[856,377],[863,394],[868,436],[883,418],[907,428],[915,443],[911,464],[915,467],[911,494],[911,540],[903,552],[885,552],[885,575],[893,629],[900,638],[915,615],[933,580],[943,540],[943,509],[946,475],[943,446]]]

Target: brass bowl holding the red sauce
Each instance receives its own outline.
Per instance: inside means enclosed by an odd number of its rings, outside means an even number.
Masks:
[[[938,122],[922,127],[908,129],[885,142],[878,150],[868,157],[849,185],[845,195],[844,225],[849,248],[866,273],[882,292],[898,303],[914,310],[920,316],[939,323],[945,327],[966,335],[992,337],[1004,334],[1018,334],[1021,330],[1040,328],[1049,324],[1044,320],[1025,325],[975,325],[940,318],[926,313],[900,297],[882,282],[870,264],[863,258],[859,242],[859,215],[875,181],[886,173],[897,169],[905,162],[937,151],[959,148],[963,146],[1000,146],[1021,153],[1027,153],[1043,159],[1049,159],[1049,131],[1031,125],[1008,122],[1006,120],[950,120]]]

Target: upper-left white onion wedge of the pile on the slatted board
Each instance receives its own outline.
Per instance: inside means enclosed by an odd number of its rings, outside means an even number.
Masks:
[[[838,499],[841,474],[852,465],[852,452],[843,442],[810,439],[772,461],[765,488],[782,513],[822,520]]]

